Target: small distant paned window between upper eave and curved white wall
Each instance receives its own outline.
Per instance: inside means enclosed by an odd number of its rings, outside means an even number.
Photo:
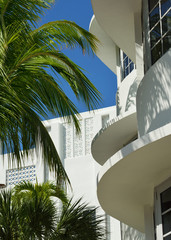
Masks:
[[[122,73],[121,76],[123,80],[132,72],[132,70],[135,68],[135,64],[122,50],[120,50],[120,59]]]

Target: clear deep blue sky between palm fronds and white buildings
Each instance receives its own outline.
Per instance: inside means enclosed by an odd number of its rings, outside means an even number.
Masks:
[[[46,12],[40,24],[67,19],[88,30],[92,16],[91,0],[58,0],[52,9]],[[64,53],[85,69],[86,76],[102,94],[103,100],[99,108],[115,105],[116,76],[96,56],[83,56],[79,49],[73,49]],[[75,99],[69,88],[66,85],[64,87],[79,112],[87,111],[86,106]]]

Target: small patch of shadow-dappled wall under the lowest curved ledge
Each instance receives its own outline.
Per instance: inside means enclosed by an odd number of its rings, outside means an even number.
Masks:
[[[145,234],[121,223],[122,240],[145,240]]]

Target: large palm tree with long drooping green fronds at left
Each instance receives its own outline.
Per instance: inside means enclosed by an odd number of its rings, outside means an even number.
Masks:
[[[10,159],[16,159],[18,165],[30,148],[40,145],[43,159],[60,182],[68,180],[67,174],[41,120],[48,113],[62,116],[72,120],[79,131],[77,108],[61,88],[58,76],[88,109],[97,106],[100,95],[62,49],[79,46],[83,53],[94,52],[98,41],[70,21],[37,27],[40,16],[53,2],[0,1],[0,139],[3,153],[11,152]]]

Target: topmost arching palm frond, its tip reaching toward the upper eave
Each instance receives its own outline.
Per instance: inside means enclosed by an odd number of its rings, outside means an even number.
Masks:
[[[47,46],[49,49],[80,47],[83,53],[97,51],[98,39],[75,22],[60,20],[42,25],[32,32],[38,46]]]

